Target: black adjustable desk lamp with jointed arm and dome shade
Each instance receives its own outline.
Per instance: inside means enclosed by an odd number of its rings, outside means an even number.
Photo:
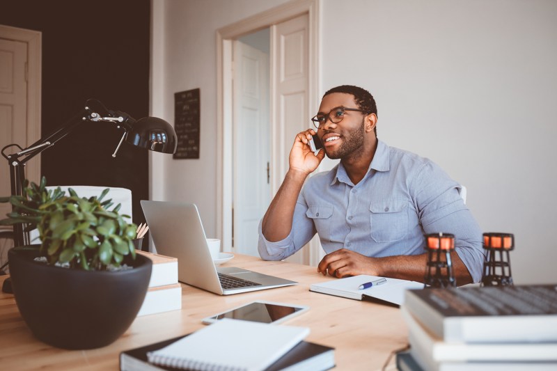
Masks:
[[[24,166],[27,161],[47,148],[51,148],[57,141],[63,139],[79,125],[86,122],[109,122],[118,125],[118,129],[123,129],[124,133],[112,157],[116,157],[116,153],[123,141],[141,148],[163,153],[174,153],[178,144],[173,127],[165,120],[156,117],[145,117],[135,120],[127,113],[107,109],[98,100],[87,100],[84,109],[77,116],[74,116],[68,123],[65,123],[65,125],[58,128],[52,134],[29,145],[28,148],[21,148],[17,144],[9,144],[2,148],[1,154],[8,160],[8,165],[10,166],[12,195],[19,196],[22,194],[25,179]],[[8,148],[13,147],[19,148],[19,151],[11,154],[5,153]],[[22,224],[15,224],[14,246],[24,246],[29,243],[29,232],[24,231]]]

